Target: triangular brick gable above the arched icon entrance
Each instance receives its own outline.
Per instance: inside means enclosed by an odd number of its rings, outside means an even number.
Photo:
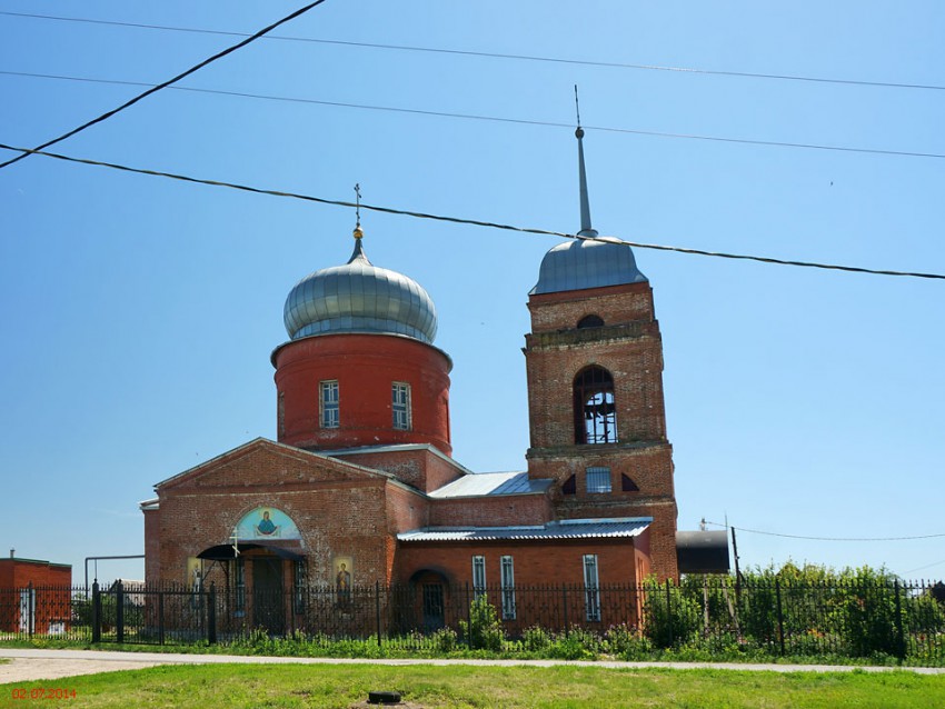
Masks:
[[[389,480],[390,473],[342,462],[294,446],[257,438],[155,486],[160,492],[189,487],[292,485]]]

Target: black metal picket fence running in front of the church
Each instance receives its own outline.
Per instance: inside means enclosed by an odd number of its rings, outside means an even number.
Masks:
[[[596,637],[598,650],[615,655],[636,643],[945,663],[945,586],[898,580],[739,583],[729,577],[687,577],[680,585],[595,588],[375,583],[256,593],[121,582],[88,590],[27,587],[0,589],[0,640],[44,636],[175,645],[252,636],[420,649],[425,639],[452,631],[461,646],[478,622],[474,601],[480,597],[495,611],[506,651],[534,650],[536,633],[578,633]]]

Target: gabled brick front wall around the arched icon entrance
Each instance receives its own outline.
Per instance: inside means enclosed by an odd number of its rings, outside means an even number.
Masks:
[[[157,576],[166,582],[188,582],[188,558],[231,543],[230,535],[245,515],[270,507],[288,515],[301,536],[271,543],[305,556],[309,582],[334,583],[337,557],[352,560],[355,582],[387,579],[387,497],[392,486],[382,475],[255,441],[158,487]],[[404,497],[401,492],[392,495]],[[149,580],[155,580],[153,572]],[[207,577],[208,582],[225,580],[219,572]]]

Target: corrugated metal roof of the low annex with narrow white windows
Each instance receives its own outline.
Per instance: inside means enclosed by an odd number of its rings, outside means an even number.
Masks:
[[[651,517],[620,519],[569,519],[547,525],[519,527],[426,527],[400,532],[397,539],[410,541],[543,541],[548,539],[619,539],[638,537],[653,522]]]

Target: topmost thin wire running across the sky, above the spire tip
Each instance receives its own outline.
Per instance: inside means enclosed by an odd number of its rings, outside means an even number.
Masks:
[[[131,27],[138,29],[149,29],[149,30],[165,30],[172,32],[192,32],[199,34],[222,34],[227,37],[246,37],[242,32],[228,32],[222,30],[207,30],[200,28],[190,28],[190,27],[171,27],[167,24],[145,24],[140,22],[118,22],[113,20],[91,20],[88,18],[69,18],[69,17],[59,17],[51,14],[33,14],[29,12],[3,12],[0,11],[0,14],[9,14],[14,17],[24,17],[24,18],[34,18],[40,20],[59,20],[63,22],[86,22],[90,24],[109,24],[115,27]],[[591,61],[591,60],[581,60],[581,59],[566,59],[561,57],[540,57],[534,54],[507,54],[501,52],[483,52],[483,51],[470,51],[470,50],[460,50],[460,49],[445,49],[441,47],[415,47],[409,44],[378,44],[371,42],[352,42],[352,41],[344,41],[344,40],[331,40],[331,39],[319,39],[311,37],[287,37],[287,36],[269,36],[267,39],[279,40],[279,41],[290,41],[290,42],[311,42],[317,44],[337,44],[342,47],[364,47],[369,49],[388,49],[396,51],[412,51],[412,52],[430,52],[438,54],[457,54],[462,57],[479,57],[485,59],[510,59],[516,61],[536,61],[536,62],[550,62],[550,63],[560,63],[560,64],[575,64],[583,67],[601,67],[609,69],[637,69],[637,70],[647,70],[647,71],[668,71],[676,73],[693,73],[693,74],[705,74],[705,76],[715,76],[715,77],[735,77],[743,79],[775,79],[780,81],[806,81],[814,83],[834,83],[834,84],[845,84],[845,86],[861,86],[861,87],[877,87],[877,88],[891,88],[891,89],[922,89],[922,90],[932,90],[932,91],[945,91],[945,86],[939,84],[928,84],[928,83],[904,83],[904,82],[895,82],[895,81],[866,81],[866,80],[857,80],[857,79],[834,79],[828,77],[807,77],[802,74],[782,74],[782,73],[758,73],[750,71],[717,71],[712,69],[698,69],[693,67],[666,67],[659,64],[636,64],[636,63],[627,63],[627,62],[616,62],[616,61]]]

